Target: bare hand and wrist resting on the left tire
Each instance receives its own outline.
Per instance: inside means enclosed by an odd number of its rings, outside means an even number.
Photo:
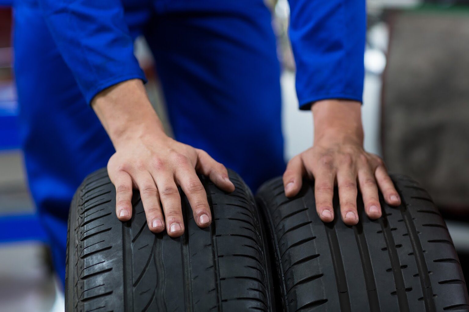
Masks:
[[[150,230],[158,233],[166,228],[169,236],[179,237],[184,232],[180,186],[197,225],[209,226],[212,215],[197,173],[232,192],[227,169],[203,150],[166,136],[140,80],[106,89],[92,105],[116,149],[107,171],[116,188],[117,217],[121,221],[132,217],[132,189],[138,189]]]

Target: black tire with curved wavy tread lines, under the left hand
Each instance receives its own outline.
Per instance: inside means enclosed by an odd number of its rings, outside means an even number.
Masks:
[[[213,216],[206,229],[181,193],[186,231],[172,239],[150,232],[138,194],[132,219],[120,222],[106,170],[89,175],[69,214],[66,311],[272,311],[254,198],[237,174],[229,176],[231,194],[201,177]]]

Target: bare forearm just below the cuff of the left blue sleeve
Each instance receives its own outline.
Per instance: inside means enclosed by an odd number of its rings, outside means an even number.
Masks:
[[[100,92],[91,102],[114,147],[145,135],[164,136],[161,121],[139,79],[121,82]]]

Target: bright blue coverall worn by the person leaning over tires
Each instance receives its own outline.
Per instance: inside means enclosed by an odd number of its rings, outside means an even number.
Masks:
[[[361,101],[365,0],[290,0],[301,109]],[[65,276],[67,216],[83,178],[114,149],[89,103],[155,58],[175,138],[256,189],[282,174],[280,65],[263,0],[15,0],[15,77],[29,186]]]

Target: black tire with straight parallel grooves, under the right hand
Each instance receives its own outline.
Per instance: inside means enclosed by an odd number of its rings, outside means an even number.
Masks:
[[[259,189],[256,199],[276,263],[277,306],[289,312],[468,310],[466,283],[445,221],[416,182],[392,178],[402,205],[390,207],[381,197],[383,217],[372,221],[359,197],[356,226],[340,218],[323,223],[309,181],[291,200],[280,178]],[[333,205],[340,216],[337,195]]]

